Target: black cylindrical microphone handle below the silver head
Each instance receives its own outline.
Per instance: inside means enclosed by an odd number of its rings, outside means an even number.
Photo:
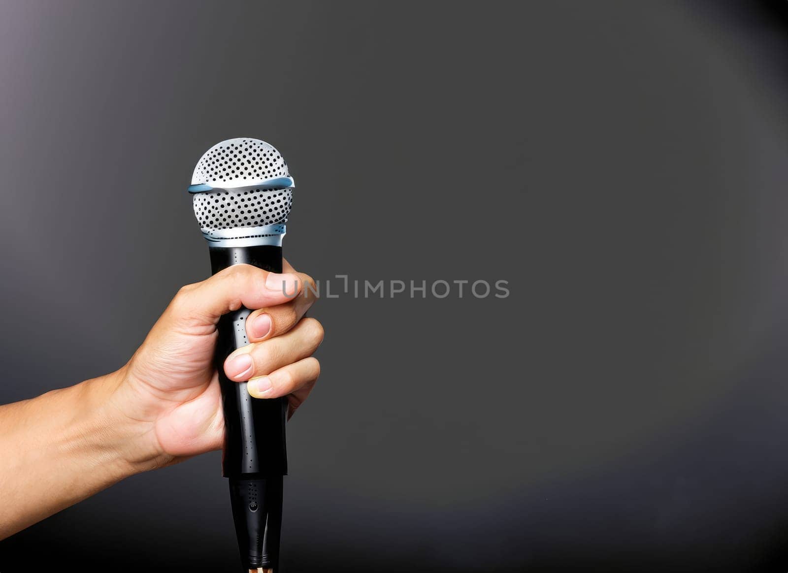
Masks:
[[[281,246],[210,247],[211,272],[233,264],[251,264],[282,272]],[[225,375],[225,359],[246,346],[246,320],[251,310],[241,308],[217,324],[215,364],[225,412],[222,474],[229,478],[232,517],[244,567],[278,568],[282,516],[282,476],[288,473],[284,426],[286,397],[253,398],[247,383]]]

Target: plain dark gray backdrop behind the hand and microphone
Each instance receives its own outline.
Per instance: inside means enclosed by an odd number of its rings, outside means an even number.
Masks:
[[[784,6],[0,3],[0,401],[128,360],[258,137],[299,269],[511,289],[314,307],[283,571],[786,571]],[[226,490],[135,476],[0,571],[236,571]]]

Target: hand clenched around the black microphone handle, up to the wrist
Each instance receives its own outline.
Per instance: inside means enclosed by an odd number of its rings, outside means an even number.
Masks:
[[[323,328],[302,318],[314,303],[314,291],[303,292],[305,283],[314,289],[312,279],[286,261],[284,272],[238,264],[180,289],[115,377],[110,394],[110,404],[135,427],[127,454],[132,463],[156,467],[221,448],[225,423],[213,365],[216,326],[222,314],[241,306],[255,309],[247,318],[251,343],[225,361],[228,378],[251,380],[253,397],[288,396],[291,416],[307,398],[320,373],[311,355]]]

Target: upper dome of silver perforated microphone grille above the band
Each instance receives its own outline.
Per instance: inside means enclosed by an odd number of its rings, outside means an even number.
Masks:
[[[289,175],[288,165],[276,147],[260,139],[239,137],[218,142],[203,153],[191,184],[242,187]]]

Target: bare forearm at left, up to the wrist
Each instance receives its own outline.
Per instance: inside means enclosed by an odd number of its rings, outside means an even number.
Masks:
[[[110,400],[120,377],[0,406],[0,538],[145,469],[130,449],[147,429]]]

